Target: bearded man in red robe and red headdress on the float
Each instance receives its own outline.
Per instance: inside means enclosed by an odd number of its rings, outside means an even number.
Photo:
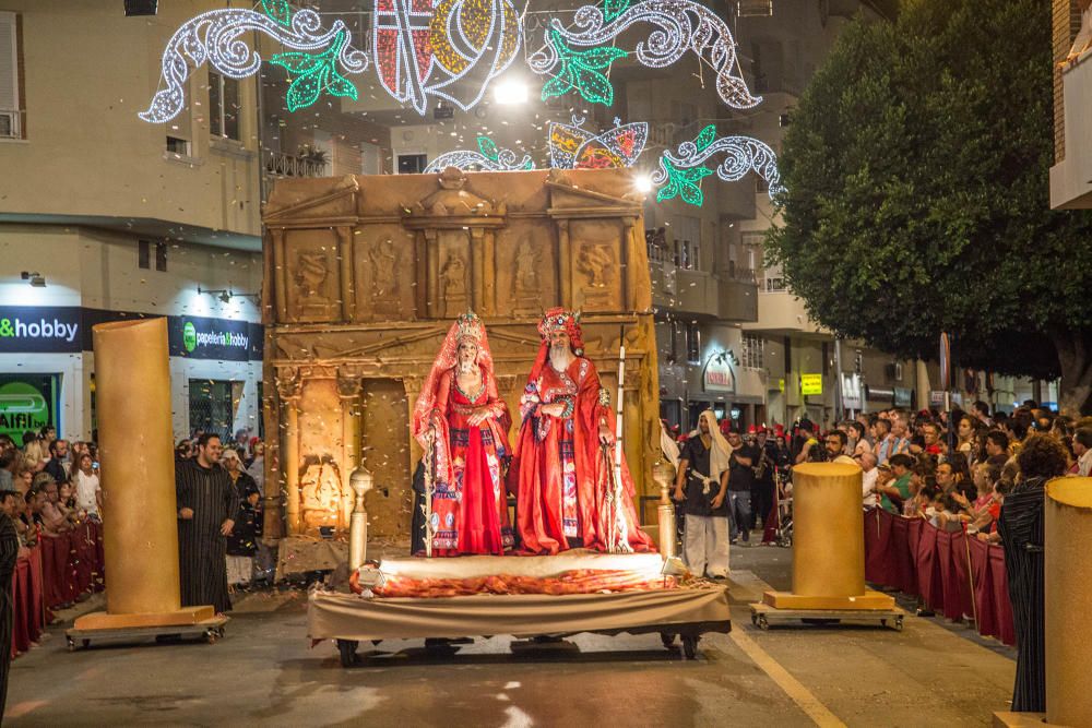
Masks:
[[[625,461],[620,508],[607,500],[614,492],[614,413],[595,367],[583,357],[578,314],[550,309],[538,333],[542,346],[520,399],[523,425],[508,472],[523,550],[654,550],[639,525]]]

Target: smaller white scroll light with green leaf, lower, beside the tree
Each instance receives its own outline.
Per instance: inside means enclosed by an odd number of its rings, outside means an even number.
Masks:
[[[716,167],[716,176],[725,182],[738,181],[753,170],[767,181],[771,200],[784,191],[778,155],[768,144],[751,136],[716,139],[716,126],[710,124],[692,142],[682,142],[677,152],[667,151],[660,157],[660,167],[652,174],[652,183],[661,188],[656,202],[679,198],[700,206],[704,202],[701,180],[713,174],[704,163],[721,153],[726,156]]]

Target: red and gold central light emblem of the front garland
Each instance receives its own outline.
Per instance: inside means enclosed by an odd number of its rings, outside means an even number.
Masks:
[[[477,105],[522,39],[511,0],[376,0],[375,20],[379,81],[423,116],[431,97]]]

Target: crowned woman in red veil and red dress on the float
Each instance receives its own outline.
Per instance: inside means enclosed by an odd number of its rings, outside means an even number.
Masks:
[[[503,476],[511,426],[485,326],[464,313],[443,339],[411,423],[422,446],[432,447],[432,556],[512,549]]]

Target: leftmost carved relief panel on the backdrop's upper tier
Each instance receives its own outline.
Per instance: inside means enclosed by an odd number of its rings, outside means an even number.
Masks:
[[[341,310],[339,239],[334,230],[287,230],[285,264],[289,321],[336,320]]]

